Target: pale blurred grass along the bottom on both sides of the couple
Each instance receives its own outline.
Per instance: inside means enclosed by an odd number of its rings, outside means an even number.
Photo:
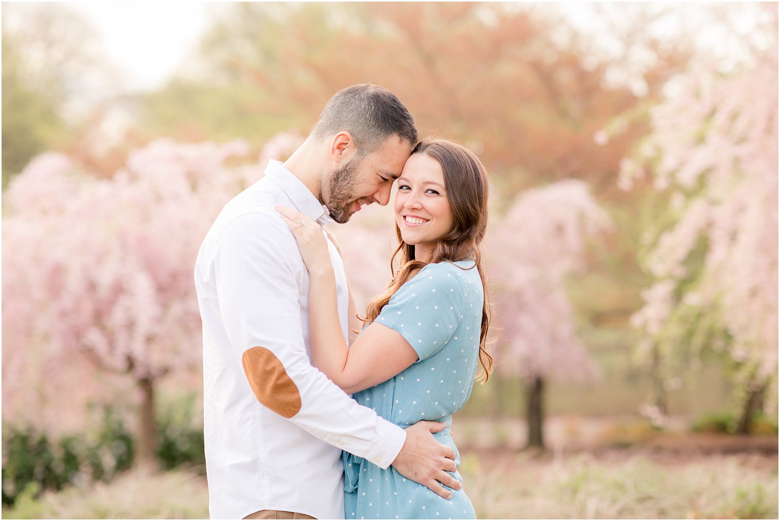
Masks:
[[[464,451],[461,473],[481,519],[760,519],[778,517],[776,455],[687,461],[612,450],[534,456]],[[207,517],[203,477],[133,471],[111,484],[24,498],[5,519]]]

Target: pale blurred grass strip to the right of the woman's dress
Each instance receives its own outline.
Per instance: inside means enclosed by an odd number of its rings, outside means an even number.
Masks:
[[[470,454],[462,473],[480,519],[777,519],[776,458],[766,467],[739,456],[669,465],[589,452],[486,466]]]

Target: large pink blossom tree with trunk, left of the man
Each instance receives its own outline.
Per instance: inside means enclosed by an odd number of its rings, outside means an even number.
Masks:
[[[262,177],[268,157],[297,144],[278,136],[252,161],[242,141],[160,140],[108,179],[60,154],[34,158],[5,194],[4,420],[83,428],[86,402],[115,399],[130,381],[139,395],[137,461],[154,459],[155,388],[200,368],[200,243],[222,206]]]

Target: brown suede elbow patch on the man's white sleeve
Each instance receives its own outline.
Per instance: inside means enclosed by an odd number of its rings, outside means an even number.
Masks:
[[[285,418],[292,418],[300,411],[300,392],[270,349],[260,346],[246,349],[241,361],[258,402]]]

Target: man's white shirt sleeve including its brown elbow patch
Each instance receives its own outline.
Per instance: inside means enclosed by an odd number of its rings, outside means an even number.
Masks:
[[[219,311],[243,364],[246,392],[317,438],[387,468],[406,434],[311,365],[299,298],[307,269],[277,212],[246,213],[225,225],[214,270]]]

